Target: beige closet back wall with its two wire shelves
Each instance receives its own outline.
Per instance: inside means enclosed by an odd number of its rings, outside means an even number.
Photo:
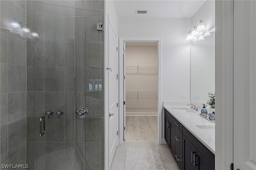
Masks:
[[[157,43],[126,43],[125,68],[126,115],[157,115]]]

